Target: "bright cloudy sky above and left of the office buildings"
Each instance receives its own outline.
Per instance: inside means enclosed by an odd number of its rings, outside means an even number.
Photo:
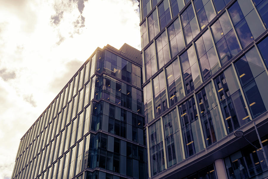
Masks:
[[[97,47],[141,50],[136,0],[0,0],[0,178],[21,137]]]

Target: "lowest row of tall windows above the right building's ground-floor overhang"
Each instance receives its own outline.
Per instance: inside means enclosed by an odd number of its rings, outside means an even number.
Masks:
[[[267,111],[267,81],[264,63],[253,47],[200,91],[150,125],[152,175],[165,169],[164,151],[170,167],[182,161],[184,155],[188,158],[200,152]],[[144,94],[148,94],[147,89]]]

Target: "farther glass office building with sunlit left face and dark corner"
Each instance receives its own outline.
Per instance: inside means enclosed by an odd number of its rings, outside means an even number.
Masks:
[[[148,178],[141,52],[97,48],[21,138],[12,178]]]

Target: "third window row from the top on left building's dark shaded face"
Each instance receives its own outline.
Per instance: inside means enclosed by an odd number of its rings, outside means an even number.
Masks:
[[[144,118],[105,101],[93,102],[91,130],[105,132],[127,138],[145,145],[143,131]]]

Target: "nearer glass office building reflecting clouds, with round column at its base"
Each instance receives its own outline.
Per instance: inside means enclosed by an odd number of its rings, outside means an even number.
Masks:
[[[139,7],[149,178],[268,177],[268,0]]]

